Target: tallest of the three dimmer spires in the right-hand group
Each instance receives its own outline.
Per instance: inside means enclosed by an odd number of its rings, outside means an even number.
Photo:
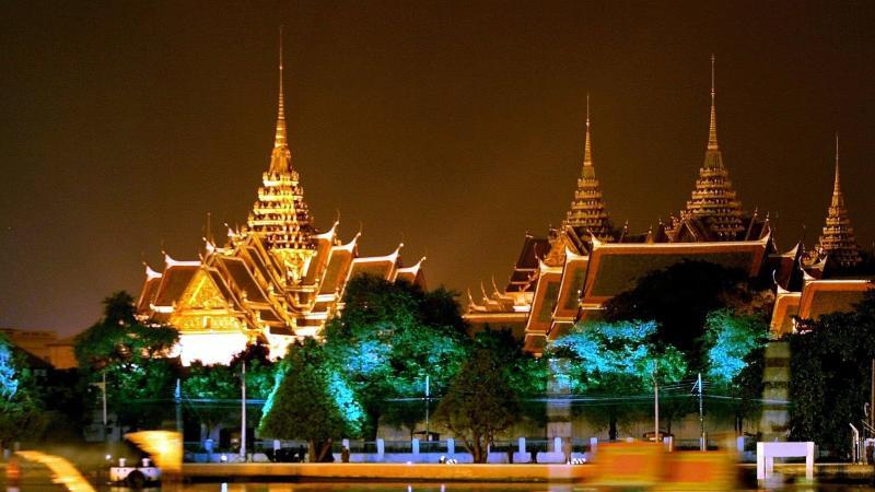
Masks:
[[[723,153],[718,145],[718,117],[714,104],[714,55],[711,55],[711,121],[708,131],[708,148],[704,163],[699,169],[696,188],[687,201],[687,209],[680,212],[672,229],[679,231],[680,221],[696,218],[703,222],[707,230],[713,233],[714,241],[734,241],[745,231],[742,224],[742,203],[730,179],[730,173],[723,166]]]

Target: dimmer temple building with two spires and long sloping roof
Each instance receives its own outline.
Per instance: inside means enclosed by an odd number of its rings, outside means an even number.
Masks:
[[[711,67],[704,163],[686,208],[640,234],[612,225],[596,178],[587,104],[583,168],[570,210],[546,237],[526,235],[503,290],[493,282],[492,292],[481,285],[478,300],[468,293],[465,317],[475,330],[510,327],[525,338],[526,350],[540,353],[574,323],[598,316],[605,302],[639,278],[679,261],[710,261],[751,278],[793,268],[775,251],[769,218],[745,212],[733,188],[718,142],[713,58]]]

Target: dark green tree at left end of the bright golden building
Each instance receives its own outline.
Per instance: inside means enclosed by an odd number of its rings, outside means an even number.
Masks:
[[[122,426],[155,426],[164,417],[178,374],[170,360],[178,331],[137,320],[133,297],[116,292],[104,300],[103,318],[77,337],[74,352],[86,383],[106,375],[107,401]]]

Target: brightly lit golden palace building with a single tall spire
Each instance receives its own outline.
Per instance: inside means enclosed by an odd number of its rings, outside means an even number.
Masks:
[[[206,237],[197,260],[177,261],[165,254],[162,271],[145,267],[138,314],[179,330],[185,364],[228,362],[254,340],[281,355],[295,338],[318,336],[342,307],[343,289],[358,273],[424,286],[422,260],[401,266],[402,245],[386,256],[359,257],[359,234],[345,243],[337,222],[328,231],[316,230],[292,165],[281,62],[279,69],[270,167],[261,175],[246,225],[229,230],[223,246]]]

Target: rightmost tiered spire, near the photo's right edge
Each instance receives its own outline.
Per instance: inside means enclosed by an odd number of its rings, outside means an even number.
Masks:
[[[818,259],[828,257],[842,268],[853,268],[860,265],[860,246],[854,237],[854,229],[844,208],[844,196],[841,192],[839,180],[839,134],[836,133],[836,177],[832,181],[832,199],[827,211],[824,235],[820,236],[816,248]]]

